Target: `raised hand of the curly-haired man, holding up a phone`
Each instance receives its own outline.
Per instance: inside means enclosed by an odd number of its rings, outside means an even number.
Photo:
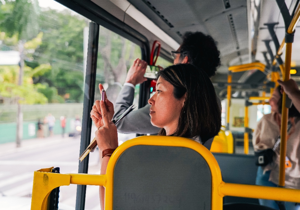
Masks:
[[[131,83],[135,86],[137,84],[147,81],[147,78],[144,77],[146,67],[147,62],[137,58],[128,70],[125,82]]]

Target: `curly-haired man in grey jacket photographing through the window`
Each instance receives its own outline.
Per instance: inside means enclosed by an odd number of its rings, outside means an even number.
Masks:
[[[202,69],[208,77],[215,75],[217,67],[220,66],[220,51],[217,49],[214,39],[202,32],[187,32],[183,36],[183,42],[177,51],[173,51],[174,64],[190,63],[198,69]],[[146,61],[136,59],[127,73],[127,77],[116,102],[114,104],[115,115],[118,117],[129,106],[133,104],[134,88],[137,84],[147,81],[144,77],[146,72]],[[103,89],[102,85],[99,85]],[[218,99],[218,105],[221,109],[221,102]],[[129,113],[119,124],[117,129],[119,133],[138,133],[138,134],[157,134],[160,128],[155,127],[150,122],[150,105],[146,105],[138,110]],[[205,146],[210,149],[213,138]]]

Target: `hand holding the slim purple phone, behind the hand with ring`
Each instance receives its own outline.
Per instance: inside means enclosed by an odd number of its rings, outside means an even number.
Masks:
[[[101,93],[101,90],[104,89],[103,86],[101,84],[99,84],[99,90]],[[105,100],[105,108],[107,111],[107,115],[108,115],[108,119],[112,120],[113,119],[113,115],[115,114],[115,111],[113,109],[113,103],[110,102],[107,99],[106,96],[106,92],[104,93],[104,100]],[[102,114],[101,114],[101,108],[100,108],[100,101],[97,100],[95,101],[95,105],[93,106],[92,110],[91,110],[91,118],[93,120],[93,122],[95,123],[96,127],[98,128],[99,126],[103,126],[103,120],[102,120]]]

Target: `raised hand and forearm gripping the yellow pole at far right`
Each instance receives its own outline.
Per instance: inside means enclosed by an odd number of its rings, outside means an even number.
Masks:
[[[290,79],[286,82],[277,80],[277,82],[281,85],[286,95],[292,100],[298,112],[300,112],[300,90],[295,80]]]

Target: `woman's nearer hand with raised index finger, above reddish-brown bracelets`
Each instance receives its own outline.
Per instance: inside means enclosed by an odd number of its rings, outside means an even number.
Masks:
[[[116,149],[118,147],[118,133],[116,125],[109,120],[104,101],[100,101],[103,126],[95,132],[99,150]]]

